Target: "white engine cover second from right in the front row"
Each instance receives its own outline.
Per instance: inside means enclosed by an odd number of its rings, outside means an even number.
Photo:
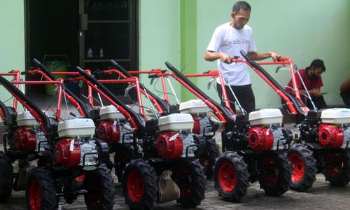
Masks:
[[[249,113],[251,125],[270,125],[282,123],[283,115],[279,109],[261,109]]]

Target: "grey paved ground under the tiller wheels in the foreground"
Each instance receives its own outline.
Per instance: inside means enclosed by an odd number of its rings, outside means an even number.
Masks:
[[[73,204],[63,204],[63,202],[59,204],[62,209],[86,209],[82,196]],[[14,192],[6,204],[0,204],[0,209],[26,209],[25,193]],[[121,186],[118,184],[116,185],[116,200],[113,209],[128,209],[121,196]],[[155,205],[154,209],[172,210],[181,209],[181,207],[176,202],[167,202]],[[258,183],[253,183],[241,202],[230,203],[218,197],[213,181],[208,181],[206,198],[197,209],[350,209],[350,186],[332,187],[325,182],[323,175],[318,174],[314,188],[311,188],[307,193],[290,190],[281,197],[268,197],[263,190],[260,190]]]

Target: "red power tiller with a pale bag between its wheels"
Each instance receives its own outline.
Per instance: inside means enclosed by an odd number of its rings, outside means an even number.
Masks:
[[[93,115],[99,116],[96,122],[115,122],[115,134],[118,134],[118,129],[127,130],[134,146],[134,157],[127,163],[122,181],[125,201],[130,208],[151,209],[155,202],[170,200],[177,200],[185,207],[199,205],[204,199],[205,175],[193,157],[196,145],[190,133],[193,128],[190,115],[176,113],[146,120],[144,113],[130,109],[102,84],[116,83],[117,80],[97,80],[83,69],[77,69],[80,77],[72,80],[82,80],[111,104],[94,111]],[[119,82],[139,83],[137,78]],[[139,87],[137,90],[140,90]],[[120,143],[126,143],[125,139]]]

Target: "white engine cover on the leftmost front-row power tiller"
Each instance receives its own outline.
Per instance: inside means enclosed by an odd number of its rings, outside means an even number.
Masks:
[[[90,137],[94,135],[94,121],[87,118],[64,120],[58,124],[58,137]]]

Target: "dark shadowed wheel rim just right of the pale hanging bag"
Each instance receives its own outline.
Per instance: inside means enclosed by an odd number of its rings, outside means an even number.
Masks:
[[[179,167],[176,171],[176,183],[180,188],[180,196],[188,197],[193,190],[193,179],[191,179],[191,170],[189,167]]]

